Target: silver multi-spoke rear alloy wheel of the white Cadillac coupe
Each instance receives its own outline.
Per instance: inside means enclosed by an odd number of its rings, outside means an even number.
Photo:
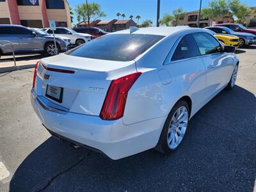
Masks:
[[[177,111],[175,111],[172,116],[172,120],[169,125],[167,134],[168,147],[175,149],[179,146],[182,141],[186,129],[188,127],[188,109],[181,106]]]

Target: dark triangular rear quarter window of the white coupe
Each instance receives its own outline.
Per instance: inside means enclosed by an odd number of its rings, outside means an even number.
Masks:
[[[185,35],[173,52],[172,61],[200,56],[200,52],[192,35]]]

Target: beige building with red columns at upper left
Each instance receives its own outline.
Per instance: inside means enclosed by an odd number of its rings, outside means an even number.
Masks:
[[[0,0],[0,24],[21,24],[31,28],[72,27],[67,0]]]

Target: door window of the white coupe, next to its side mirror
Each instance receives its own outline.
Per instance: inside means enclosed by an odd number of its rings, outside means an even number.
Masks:
[[[194,33],[193,36],[202,55],[219,52],[220,43],[213,36],[208,33]]]

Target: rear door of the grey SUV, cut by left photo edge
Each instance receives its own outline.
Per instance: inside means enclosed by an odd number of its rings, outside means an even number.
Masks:
[[[9,43],[11,42],[11,44]],[[12,49],[13,46],[13,49]],[[4,53],[19,51],[19,38],[13,27],[0,27],[0,48]]]

